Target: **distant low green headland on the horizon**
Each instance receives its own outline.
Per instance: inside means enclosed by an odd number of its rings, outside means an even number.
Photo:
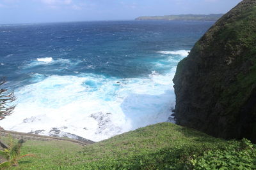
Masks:
[[[223,14],[209,14],[209,15],[193,15],[193,14],[187,14],[187,15],[164,15],[164,16],[143,16],[138,17],[135,20],[204,20],[204,21],[216,21],[220,17],[222,17]]]

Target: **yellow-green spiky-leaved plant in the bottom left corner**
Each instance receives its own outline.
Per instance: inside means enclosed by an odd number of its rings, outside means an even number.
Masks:
[[[0,169],[3,167],[17,166],[18,161],[22,159],[22,157],[35,156],[33,154],[20,155],[20,148],[24,142],[24,139],[20,139],[18,143],[15,144],[13,138],[10,137],[9,146],[4,148],[4,150],[0,150],[0,156],[6,159],[5,162],[0,164]]]

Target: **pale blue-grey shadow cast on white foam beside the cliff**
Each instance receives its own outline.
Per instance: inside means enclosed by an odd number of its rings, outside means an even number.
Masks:
[[[124,99],[121,108],[131,122],[132,129],[137,129],[148,124],[166,122],[174,105],[173,90],[166,90],[159,95],[130,94]]]

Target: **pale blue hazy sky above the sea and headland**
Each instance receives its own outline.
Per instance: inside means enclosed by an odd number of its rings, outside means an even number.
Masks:
[[[0,24],[226,13],[241,0],[0,0]]]

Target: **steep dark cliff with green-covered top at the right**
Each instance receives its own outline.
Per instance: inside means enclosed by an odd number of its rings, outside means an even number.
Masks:
[[[256,142],[256,1],[225,14],[179,62],[177,124]]]

